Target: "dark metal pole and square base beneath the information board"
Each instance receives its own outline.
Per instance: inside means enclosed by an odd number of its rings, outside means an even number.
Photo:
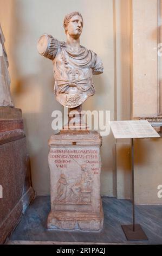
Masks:
[[[121,225],[128,241],[131,240],[148,240],[147,236],[142,230],[141,225],[135,224],[135,211],[134,211],[134,141],[132,138],[132,218],[133,224]]]

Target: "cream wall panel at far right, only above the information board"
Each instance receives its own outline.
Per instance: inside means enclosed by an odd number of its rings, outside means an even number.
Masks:
[[[133,117],[158,115],[157,13],[157,0],[132,1]]]

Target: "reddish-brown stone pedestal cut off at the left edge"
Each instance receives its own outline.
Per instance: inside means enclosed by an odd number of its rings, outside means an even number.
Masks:
[[[0,244],[33,200],[21,109],[0,107]]]

